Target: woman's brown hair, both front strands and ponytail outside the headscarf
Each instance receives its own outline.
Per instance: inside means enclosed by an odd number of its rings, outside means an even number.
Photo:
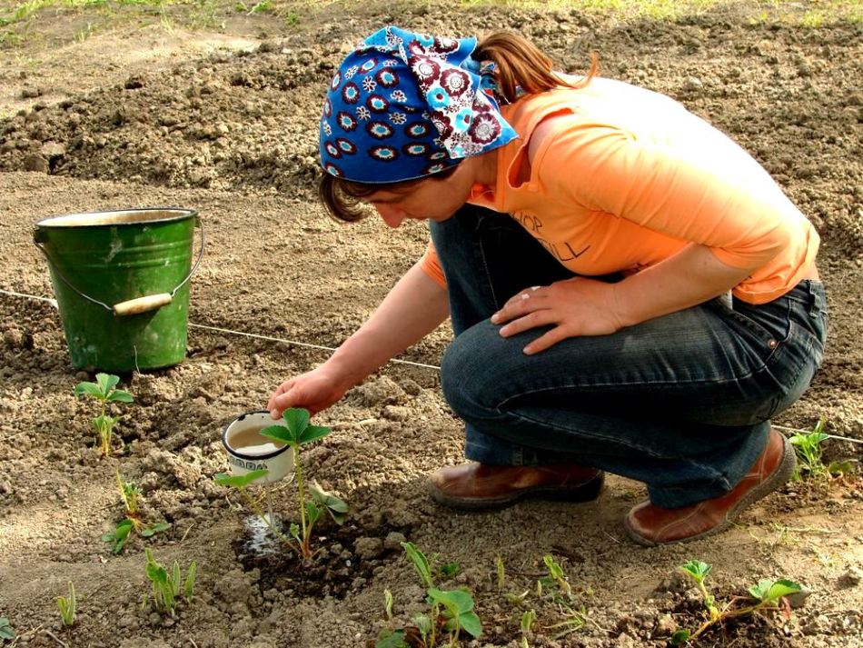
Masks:
[[[520,35],[508,32],[495,32],[483,38],[472,57],[477,61],[494,62],[499,99],[505,104],[518,101],[520,91],[528,95],[538,95],[560,85],[570,88],[584,87],[599,69],[599,59],[594,53],[590,56],[588,74],[575,83],[569,83],[552,72],[551,59],[542,54],[536,45]],[[369,214],[368,210],[359,204],[358,198],[364,198],[376,191],[408,190],[413,184],[429,178],[442,180],[449,177],[456,166],[422,178],[381,184],[356,183],[324,173],[318,184],[318,195],[332,217],[353,223]]]

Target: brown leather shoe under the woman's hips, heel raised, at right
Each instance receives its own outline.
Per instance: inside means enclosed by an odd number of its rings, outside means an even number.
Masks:
[[[785,484],[797,459],[788,440],[770,430],[767,447],[739,484],[720,497],[679,509],[650,502],[633,507],[624,520],[630,538],[644,546],[683,543],[727,529],[749,504]]]

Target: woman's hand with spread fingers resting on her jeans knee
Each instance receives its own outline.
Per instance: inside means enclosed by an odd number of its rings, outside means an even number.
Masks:
[[[568,337],[607,335],[620,331],[620,308],[615,284],[574,277],[547,286],[526,288],[491,315],[510,337],[537,326],[552,326],[524,347],[525,354],[538,354]]]

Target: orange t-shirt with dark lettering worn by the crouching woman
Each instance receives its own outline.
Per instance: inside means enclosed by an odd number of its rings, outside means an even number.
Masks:
[[[496,184],[476,185],[469,202],[511,214],[573,273],[635,273],[694,242],[756,268],[732,292],[763,304],[793,288],[818,253],[815,228],[760,164],[670,97],[595,78],[501,112],[521,137],[490,154]],[[528,164],[531,134],[551,115]],[[422,267],[445,285],[432,244]]]

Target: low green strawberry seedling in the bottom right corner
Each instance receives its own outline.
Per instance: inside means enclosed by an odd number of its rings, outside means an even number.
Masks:
[[[701,623],[695,632],[690,632],[687,629],[680,629],[676,633],[672,634],[670,638],[671,645],[683,645],[684,643],[691,642],[699,637],[699,635],[706,632],[715,623],[723,623],[726,619],[744,616],[746,614],[777,610],[779,609],[778,604],[782,601],[783,597],[789,596],[789,594],[798,593],[802,590],[798,583],[785,579],[775,581],[769,579],[760,580],[757,585],[749,587],[749,596],[752,599],[755,599],[757,603],[744,605],[743,607],[734,607],[734,605],[740,600],[745,599],[745,597],[735,596],[731,601],[729,601],[729,603],[723,605],[720,610],[716,606],[713,595],[708,592],[707,587],[704,584],[704,580],[707,578],[710,568],[711,565],[708,563],[702,563],[699,560],[690,560],[689,562],[680,565],[680,570],[692,578],[698,585],[699,592],[704,599],[704,605],[708,610],[709,618],[704,623]],[[787,604],[788,603],[786,603],[786,605]]]

